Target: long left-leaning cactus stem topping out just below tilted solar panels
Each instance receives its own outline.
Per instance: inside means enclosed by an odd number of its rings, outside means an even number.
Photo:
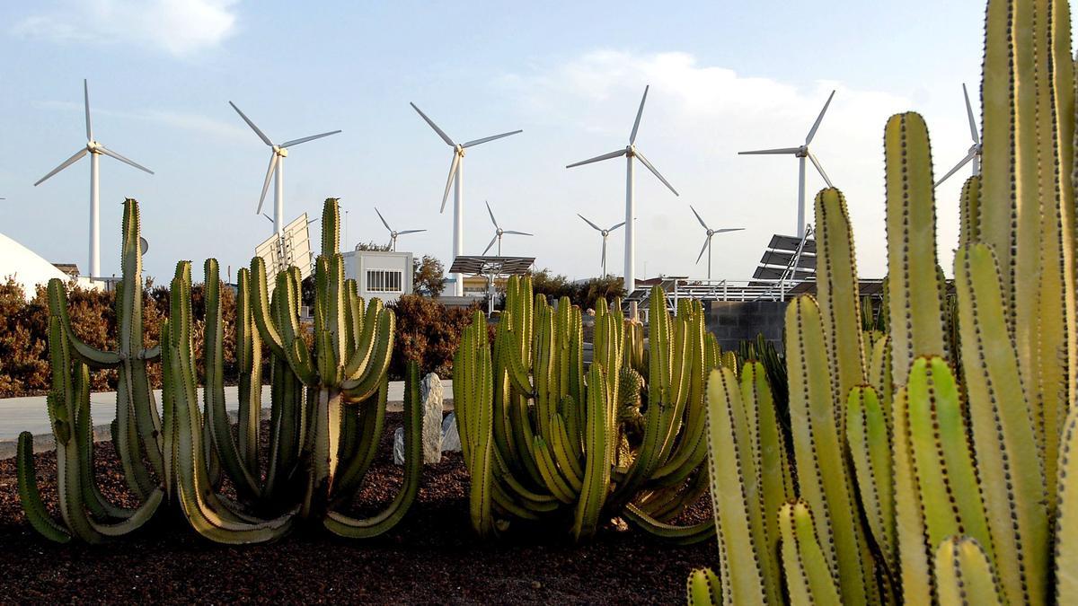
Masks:
[[[860,522],[834,413],[819,307],[807,295],[786,308],[790,425],[801,496],[818,511],[828,564],[838,571],[845,603],[863,603]]]

